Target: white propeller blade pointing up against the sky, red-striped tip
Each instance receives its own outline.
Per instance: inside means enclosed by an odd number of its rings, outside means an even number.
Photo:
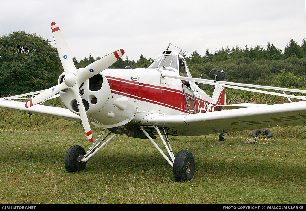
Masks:
[[[73,63],[72,56],[70,54],[68,45],[61,30],[58,28],[55,22],[51,23],[51,29],[56,48],[58,50],[58,55],[61,59],[65,74],[67,75],[68,73],[76,72],[76,67]]]

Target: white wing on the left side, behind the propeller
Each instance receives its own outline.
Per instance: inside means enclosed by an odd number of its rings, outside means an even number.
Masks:
[[[14,111],[20,111],[24,113],[30,114],[38,114],[47,117],[54,117],[58,119],[65,119],[69,121],[77,121],[82,122],[81,117],[69,109],[58,108],[47,105],[33,105],[29,108],[25,107],[25,102],[17,102],[12,99],[0,98],[0,108],[1,109],[9,109]]]

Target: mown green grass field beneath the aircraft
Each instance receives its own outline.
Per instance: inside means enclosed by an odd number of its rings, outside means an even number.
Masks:
[[[2,118],[1,204],[306,204],[306,139],[291,129],[273,129],[271,140],[259,140],[266,144],[244,143],[250,132],[226,134],[222,142],[218,135],[174,136],[174,153],[187,149],[196,162],[191,181],[175,182],[148,140],[118,135],[84,171],[67,173],[68,148],[90,147],[80,124],[31,117],[16,125],[8,119],[14,117]]]

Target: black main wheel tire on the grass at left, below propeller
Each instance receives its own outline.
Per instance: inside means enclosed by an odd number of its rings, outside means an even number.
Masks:
[[[83,147],[74,145],[70,147],[65,154],[65,169],[68,172],[82,171],[86,167],[87,162],[82,162],[80,159],[85,155]]]

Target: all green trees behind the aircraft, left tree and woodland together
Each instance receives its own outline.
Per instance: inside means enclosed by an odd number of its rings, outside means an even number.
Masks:
[[[201,56],[196,50],[192,55],[183,53],[189,70],[195,78],[208,79],[212,69],[223,70],[226,81],[259,85],[295,87],[305,89],[306,41],[299,45],[291,38],[284,51],[274,44],[265,47],[245,45],[244,48],[220,48],[212,53],[209,49]],[[91,55],[77,61],[76,68],[86,67],[100,59]],[[156,59],[156,58],[155,58]],[[148,67],[154,61],[142,54],[139,60],[128,56],[119,59],[110,68]],[[21,94],[50,88],[57,84],[63,68],[57,50],[50,41],[24,31],[13,31],[0,37],[0,94]],[[200,84],[203,90],[210,87]]]

